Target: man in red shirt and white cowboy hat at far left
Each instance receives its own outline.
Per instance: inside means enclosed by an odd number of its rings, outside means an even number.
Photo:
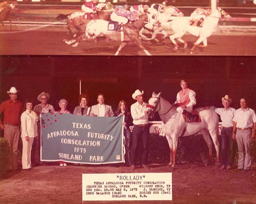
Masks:
[[[11,157],[9,162],[9,170],[18,169],[18,143],[20,137],[21,109],[22,104],[17,99],[19,90],[11,87],[7,94],[10,99],[4,101],[0,105],[0,114],[4,112],[4,123],[0,119],[0,126],[4,131],[4,138],[9,142]]]

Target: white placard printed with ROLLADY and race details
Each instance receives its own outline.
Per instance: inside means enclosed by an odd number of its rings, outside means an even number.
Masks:
[[[83,201],[172,200],[172,173],[83,174]]]

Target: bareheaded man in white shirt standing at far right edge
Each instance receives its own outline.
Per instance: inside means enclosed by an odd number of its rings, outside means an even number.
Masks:
[[[240,100],[241,108],[235,111],[233,118],[233,139],[238,146],[238,170],[249,171],[251,166],[251,145],[256,132],[256,114],[248,107],[247,99]]]

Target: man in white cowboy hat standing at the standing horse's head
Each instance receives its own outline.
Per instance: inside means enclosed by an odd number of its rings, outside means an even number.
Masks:
[[[132,97],[137,102],[131,105],[131,114],[134,124],[131,150],[131,169],[135,169],[137,151],[140,141],[142,141],[141,168],[149,169],[149,167],[146,165],[148,160],[149,120],[146,107],[147,104],[143,101],[143,90],[135,90]]]

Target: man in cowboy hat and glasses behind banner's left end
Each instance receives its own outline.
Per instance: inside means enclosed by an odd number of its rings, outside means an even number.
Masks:
[[[38,95],[37,100],[41,102],[40,104],[36,105],[34,107],[34,112],[40,117],[41,113],[54,113],[54,107],[50,104],[47,103],[49,100],[50,95],[45,92],[41,92],[41,94]],[[32,146],[31,150],[31,162],[34,165],[39,165],[40,164],[40,121],[37,123],[37,130],[38,130],[38,137],[34,139],[34,143]]]

